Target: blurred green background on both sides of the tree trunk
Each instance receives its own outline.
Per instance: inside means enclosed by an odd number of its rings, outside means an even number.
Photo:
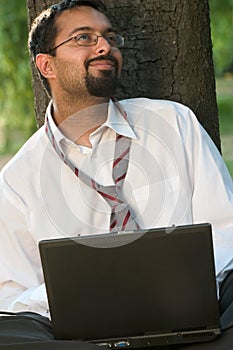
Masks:
[[[222,153],[233,175],[233,0],[209,0]],[[0,168],[36,130],[26,0],[0,0]]]

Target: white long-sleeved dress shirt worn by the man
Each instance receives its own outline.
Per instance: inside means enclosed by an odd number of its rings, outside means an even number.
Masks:
[[[96,182],[113,185],[116,132],[130,137],[122,191],[134,219],[141,228],[211,223],[222,281],[233,268],[233,184],[217,148],[181,104],[142,98],[121,105],[128,120],[110,101],[107,121],[87,148],[58,130],[51,102],[47,115],[59,148]],[[46,314],[38,242],[106,233],[110,213],[107,202],[59,158],[45,128],[39,129],[0,176],[0,310]]]

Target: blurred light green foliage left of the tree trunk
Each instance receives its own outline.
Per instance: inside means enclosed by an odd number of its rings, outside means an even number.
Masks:
[[[15,151],[36,128],[27,53],[26,0],[0,1],[0,62],[0,146],[5,150],[11,145],[10,151]],[[14,130],[20,133],[14,134]]]

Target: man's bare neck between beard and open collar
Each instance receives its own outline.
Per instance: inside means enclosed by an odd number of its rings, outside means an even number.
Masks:
[[[90,134],[106,121],[109,100],[97,97],[80,100],[68,103],[54,98],[53,118],[67,138],[77,144],[92,147]]]

